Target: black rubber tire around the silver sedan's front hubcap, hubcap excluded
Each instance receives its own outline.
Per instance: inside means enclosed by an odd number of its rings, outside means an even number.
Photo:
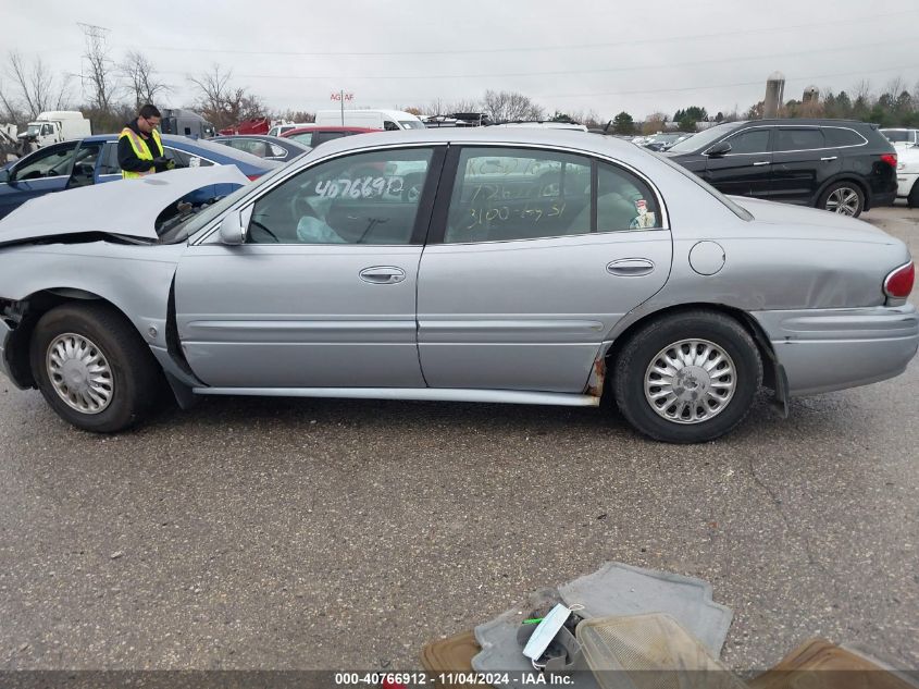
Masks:
[[[133,325],[112,310],[95,305],[60,306],[48,311],[35,327],[29,361],[38,389],[64,420],[87,431],[109,433],[135,423],[153,395],[151,355]],[[64,333],[83,335],[104,355],[112,370],[112,402],[99,414],[70,407],[51,384],[46,365],[48,347]],[[137,342],[132,342],[136,340]],[[133,345],[133,346],[132,346]]]

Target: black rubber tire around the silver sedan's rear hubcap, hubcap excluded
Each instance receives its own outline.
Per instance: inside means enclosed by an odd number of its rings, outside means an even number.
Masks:
[[[728,406],[707,421],[674,423],[660,417],[645,398],[645,371],[653,357],[681,340],[708,340],[734,361],[736,389]],[[613,389],[622,415],[641,432],[671,443],[698,443],[719,438],[746,417],[762,382],[762,361],[753,337],[720,315],[684,315],[651,323],[623,347]]]

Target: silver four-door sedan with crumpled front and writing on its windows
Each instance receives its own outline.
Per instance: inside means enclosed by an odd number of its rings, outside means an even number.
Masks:
[[[701,442],[760,386],[787,410],[901,373],[912,278],[871,225],[724,197],[614,138],[368,134],[251,184],[203,168],[25,204],[0,222],[0,367],[99,432],[167,384],[182,406],[606,394]]]

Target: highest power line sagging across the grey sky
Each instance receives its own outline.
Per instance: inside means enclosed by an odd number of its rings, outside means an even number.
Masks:
[[[916,14],[919,10],[904,10],[902,12],[892,12],[890,14],[873,14],[870,16],[859,16],[847,20],[836,20],[834,22],[821,22],[819,27],[839,26],[843,24],[864,24],[866,22],[884,21],[889,23],[892,17],[902,16],[905,14]],[[384,56],[447,56],[447,54],[495,54],[504,52],[546,52],[550,50],[582,50],[594,48],[613,48],[620,46],[641,46],[660,42],[678,42],[707,38],[723,38],[725,36],[745,36],[749,34],[768,34],[768,33],[784,33],[799,28],[814,29],[815,25],[798,24],[793,26],[773,26],[768,28],[748,28],[731,32],[719,32],[715,34],[696,34],[693,36],[670,36],[663,38],[639,38],[635,40],[622,40],[604,44],[573,44],[567,46],[535,46],[525,48],[486,48],[479,50],[400,50],[400,51],[378,51],[378,52],[355,52],[355,51],[332,51],[323,50],[319,52],[301,52],[288,50],[234,50],[224,48],[188,48],[188,47],[173,47],[173,46],[148,46],[150,50],[162,50],[167,52],[200,52],[200,53],[222,53],[222,54],[243,54],[243,56],[289,56],[289,57],[384,57]]]

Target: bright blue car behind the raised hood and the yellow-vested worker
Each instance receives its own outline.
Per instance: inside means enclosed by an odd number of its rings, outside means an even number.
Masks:
[[[176,168],[236,165],[254,180],[281,164],[208,140],[167,134],[162,138],[163,155],[175,161]],[[117,139],[117,134],[99,134],[53,144],[0,168],[0,218],[51,192],[121,180]]]

